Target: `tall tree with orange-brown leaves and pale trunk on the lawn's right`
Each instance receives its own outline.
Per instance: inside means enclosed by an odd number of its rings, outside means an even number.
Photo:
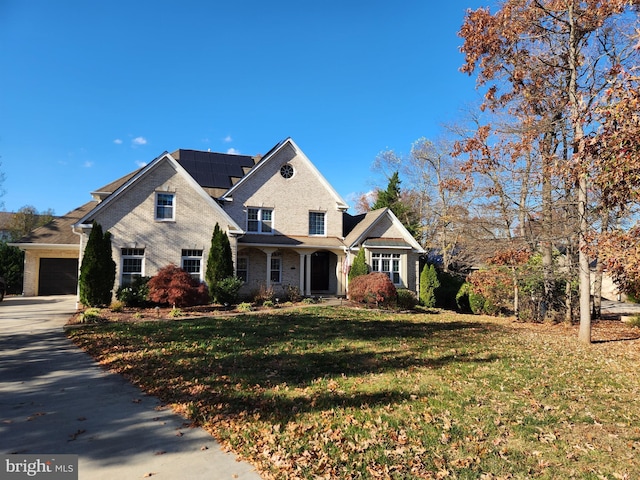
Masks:
[[[635,25],[616,23],[633,4],[638,2],[506,0],[493,15],[488,9],[468,11],[460,31],[462,70],[477,72],[478,84],[487,87],[483,107],[504,109],[517,119],[526,135],[512,145],[514,151],[533,152],[537,145],[542,174],[563,177],[570,192],[579,257],[579,340],[585,343],[591,341],[587,192],[593,161],[585,132],[597,129],[590,112],[616,64],[633,64]],[[615,33],[623,28],[629,35]],[[486,137],[490,130],[487,125],[478,134]],[[478,146],[482,159],[482,142]]]

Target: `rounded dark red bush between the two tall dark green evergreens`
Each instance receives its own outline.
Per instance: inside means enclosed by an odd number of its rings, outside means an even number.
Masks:
[[[155,303],[176,307],[209,303],[207,286],[175,265],[162,268],[148,285],[149,300]]]

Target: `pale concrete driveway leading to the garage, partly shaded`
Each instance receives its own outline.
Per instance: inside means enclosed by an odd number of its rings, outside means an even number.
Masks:
[[[68,340],[75,296],[0,303],[0,453],[76,454],[79,478],[259,479]]]

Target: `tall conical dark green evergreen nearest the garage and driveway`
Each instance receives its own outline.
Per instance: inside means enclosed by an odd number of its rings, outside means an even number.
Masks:
[[[116,278],[116,263],[111,252],[111,233],[93,222],[80,266],[80,302],[89,307],[109,305]]]

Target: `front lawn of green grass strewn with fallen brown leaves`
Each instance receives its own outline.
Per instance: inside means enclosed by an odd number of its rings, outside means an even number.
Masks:
[[[640,476],[637,341],[326,307],[69,335],[265,478]]]

